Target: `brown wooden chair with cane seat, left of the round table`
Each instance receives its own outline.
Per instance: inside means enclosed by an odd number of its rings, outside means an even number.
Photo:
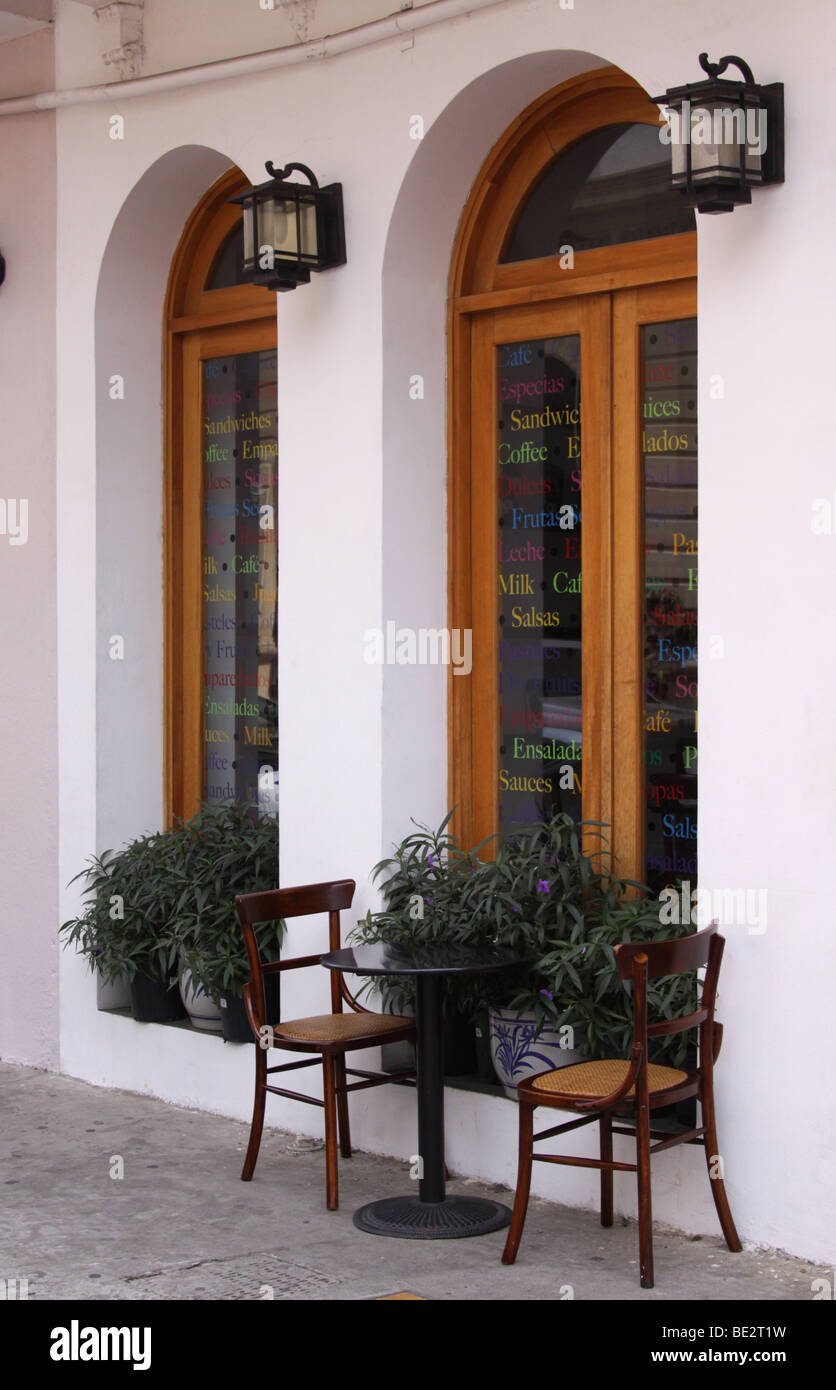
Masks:
[[[264,979],[284,970],[299,970],[319,965],[321,955],[294,956],[289,960],[274,960],[263,965],[253,926],[259,922],[274,922],[282,917],[305,917],[313,913],[328,913],[328,949],[339,949],[339,912],[349,908],[355,895],[351,878],[334,883],[314,883],[302,888],[275,888],[268,892],[246,892],[235,898],[238,920],[246,942],[250,981],[243,987],[243,1002],[253,1036],[256,1038],[256,1094],[249,1147],[241,1173],[248,1183],[255,1172],[262,1129],[264,1125],[264,1102],[267,1091],[305,1101],[307,1105],[321,1105],[325,1111],[325,1197],[328,1211],[337,1211],[337,1133],[344,1158],[351,1158],[351,1131],[348,1122],[348,1093],[362,1091],[369,1086],[383,1086],[387,1081],[405,1083],[415,1076],[412,1072],[388,1074],[384,1072],[348,1070],[345,1054],[359,1048],[377,1047],[381,1042],[396,1042],[401,1038],[415,1038],[415,1019],[398,1017],[391,1013],[371,1013],[349,992],[342,972],[330,970],[331,1012],[307,1019],[280,1022],[267,1017]],[[342,1001],[351,1006],[351,1013],[342,1012]],[[278,1009],[281,1016],[281,1008]],[[316,1052],[306,1062],[285,1062],[281,1066],[267,1066],[267,1049],[280,1048],[288,1052]],[[324,1099],[305,1095],[300,1091],[285,1091],[268,1086],[267,1077],[274,1072],[292,1072],[305,1066],[323,1066]],[[348,1076],[363,1077],[349,1084]]]

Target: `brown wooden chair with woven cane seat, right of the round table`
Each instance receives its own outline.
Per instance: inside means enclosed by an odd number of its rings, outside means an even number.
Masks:
[[[652,1218],[650,1193],[650,1156],[676,1144],[701,1144],[705,1148],[705,1162],[711,1180],[714,1205],[726,1237],[729,1250],[741,1248],[734,1230],[726,1188],[722,1179],[721,1150],[716,1138],[714,1109],[714,1063],[716,1062],[723,1027],[715,1023],[714,1006],[716,981],[723,955],[725,940],[716,934],[718,924],[712,922],[704,931],[673,941],[633,942],[615,948],[619,974],[633,980],[633,1051],[629,1061],[577,1062],[573,1066],[542,1072],[529,1077],[517,1087],[520,1106],[520,1148],[516,1197],[508,1240],[502,1252],[502,1264],[511,1265],[523,1233],[529,1187],[531,1183],[531,1162],[569,1163],[601,1170],[601,1225],[612,1226],[612,1175],[613,1172],[636,1173],[638,1179],[638,1265],[643,1289],[654,1286]],[[694,1013],[661,1023],[647,1022],[647,981],[659,976],[683,974],[707,965],[700,1008]],[[679,1068],[658,1066],[648,1062],[648,1038],[683,1033],[686,1029],[700,1029],[698,1063],[693,1072]],[[702,1111],[702,1123],[682,1134],[669,1134],[650,1127],[650,1112],[662,1105],[672,1105],[696,1095]],[[538,1105],[555,1109],[590,1112],[583,1119],[556,1125],[554,1129],[534,1134],[534,1111]],[[613,1126],[613,1115],[634,1116],[636,1129]],[[598,1120],[601,1131],[601,1158],[569,1158],[554,1154],[534,1154],[538,1140],[565,1134]],[[612,1136],[632,1134],[636,1138],[637,1162],[616,1163],[612,1158]],[[651,1147],[651,1138],[657,1140]]]

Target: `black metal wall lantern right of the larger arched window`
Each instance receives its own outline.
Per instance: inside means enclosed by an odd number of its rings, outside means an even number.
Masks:
[[[729,65],[740,79],[722,76]],[[783,183],[783,82],[759,86],[733,53],[709,63],[705,81],[651,97],[668,107],[672,183],[700,213],[732,213],[751,203],[751,189]]]

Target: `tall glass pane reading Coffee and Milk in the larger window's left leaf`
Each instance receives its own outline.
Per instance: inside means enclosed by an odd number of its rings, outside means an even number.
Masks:
[[[498,349],[499,833],[581,816],[580,339]]]

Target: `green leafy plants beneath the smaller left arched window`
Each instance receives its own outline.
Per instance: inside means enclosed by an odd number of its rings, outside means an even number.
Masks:
[[[249,965],[234,898],[274,888],[277,859],[274,820],[236,803],[202,805],[189,821],[89,860],[75,876],[86,880],[86,901],[63,923],[64,945],[106,981],[131,981],[136,972],[167,981],[185,965],[216,1002],[221,990],[239,994]],[[266,958],[282,933],[284,923],[259,926]]]

